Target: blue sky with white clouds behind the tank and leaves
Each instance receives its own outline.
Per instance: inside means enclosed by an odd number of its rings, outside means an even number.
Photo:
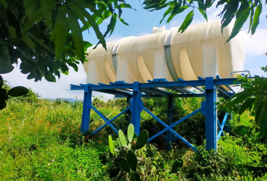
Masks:
[[[132,9],[123,9],[122,18],[127,22],[130,26],[126,26],[117,21],[115,30],[110,37],[107,37],[107,42],[116,41],[121,39],[122,37],[127,36],[140,36],[149,34],[152,32],[152,28],[160,27],[165,25],[166,29],[170,29],[171,27],[180,26],[183,22],[186,14],[191,11],[185,11],[181,15],[178,15],[173,18],[173,20],[166,24],[165,21],[159,25],[160,19],[165,12],[165,9],[148,12],[145,9],[142,9],[142,1],[130,0],[127,3],[131,4],[135,10]],[[222,7],[218,7],[216,9],[215,6],[212,6],[207,10],[208,20],[220,19],[220,17],[216,17],[221,10]],[[263,53],[267,51],[267,4],[263,5],[263,10],[260,17],[260,24],[255,32],[255,34],[250,38],[250,34],[247,34],[248,31],[248,23],[243,26],[243,29],[240,31],[240,34],[243,39],[243,43],[246,51],[246,59],[245,59],[245,67],[244,69],[248,69],[251,71],[252,75],[261,75],[266,76],[263,71],[260,70],[261,66],[266,66],[267,57],[263,56]],[[198,24],[205,22],[206,20],[203,18],[202,14],[198,12],[196,9],[194,12],[194,20],[192,24]],[[105,32],[106,27],[109,23],[109,19],[103,21],[100,26],[100,30]],[[98,42],[94,31],[92,29],[89,30],[90,35],[87,31],[83,32],[83,38],[86,41],[91,42],[93,45]],[[42,95],[43,98],[57,98],[57,97],[67,97],[73,98],[78,97],[78,99],[83,99],[83,91],[71,91],[69,90],[70,84],[80,84],[86,82],[86,73],[83,70],[82,65],[79,65],[78,72],[75,72],[72,68],[70,68],[69,75],[62,75],[60,79],[57,79],[56,83],[47,82],[44,78],[40,82],[34,82],[34,79],[28,80],[26,79],[27,75],[20,73],[19,65],[15,67],[14,71],[9,74],[3,74],[3,78],[8,80],[11,85],[18,86],[22,85],[25,87],[31,87],[33,91],[38,92]],[[93,95],[100,96],[103,95],[106,99],[112,98],[113,95],[100,94],[95,92]]]

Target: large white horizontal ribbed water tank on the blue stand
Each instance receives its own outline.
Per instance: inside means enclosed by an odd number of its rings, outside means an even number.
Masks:
[[[220,20],[189,26],[178,34],[179,27],[155,28],[149,35],[125,37],[89,48],[84,63],[87,83],[114,81],[147,82],[165,78],[168,81],[196,80],[198,76],[225,78],[231,71],[243,70],[245,50],[239,35],[229,38],[233,23],[221,34]]]

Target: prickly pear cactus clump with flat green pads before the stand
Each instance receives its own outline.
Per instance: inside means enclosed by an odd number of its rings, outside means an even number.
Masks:
[[[145,178],[146,173],[150,172],[147,170],[148,167],[151,167],[153,172],[164,170],[165,161],[162,156],[158,154],[155,146],[148,145],[147,149],[136,151],[137,149],[143,148],[147,143],[148,131],[142,130],[139,136],[137,136],[137,134],[134,133],[134,126],[130,124],[127,130],[127,137],[128,139],[126,139],[121,130],[119,130],[119,138],[116,140],[113,141],[112,137],[109,136],[109,155],[106,157],[99,157],[103,164],[106,164],[108,159],[110,159],[107,165],[109,166],[109,176],[111,178],[124,177],[130,178],[132,181],[140,181]],[[148,161],[148,164],[144,164],[142,161],[141,157],[143,156],[148,158],[148,160],[145,161]],[[177,159],[173,163],[171,171],[166,174],[176,173],[182,166],[183,160]]]

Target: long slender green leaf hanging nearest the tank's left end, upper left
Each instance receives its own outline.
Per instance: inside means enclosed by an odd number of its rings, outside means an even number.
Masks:
[[[68,22],[71,28],[71,36],[74,42],[74,48],[79,59],[84,62],[84,47],[82,30],[78,22],[78,17],[70,10],[68,11]]]

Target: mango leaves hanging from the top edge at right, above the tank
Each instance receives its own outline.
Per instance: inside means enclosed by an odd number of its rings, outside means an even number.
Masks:
[[[196,9],[208,21],[206,12],[208,8],[215,6],[214,2],[215,0],[145,0],[143,2],[143,5],[145,5],[143,8],[147,9],[148,11],[168,8],[163,14],[163,18],[160,20],[160,23],[166,18],[166,16],[168,16],[166,21],[166,23],[168,23],[177,14],[184,12],[186,9],[192,9],[187,14],[184,22],[178,30],[178,32],[182,33],[191,24],[194,17],[194,11]],[[233,37],[235,37],[235,35],[237,35],[238,32],[240,32],[243,24],[247,20],[250,22],[248,32],[251,32],[251,35],[255,33],[255,30],[260,22],[259,19],[262,12],[263,3],[266,4],[267,0],[220,0],[217,2],[216,8],[224,5],[222,12],[218,14],[218,16],[222,18],[222,32],[223,28],[229,25],[232,19],[236,19],[231,35],[226,42],[231,40]]]

